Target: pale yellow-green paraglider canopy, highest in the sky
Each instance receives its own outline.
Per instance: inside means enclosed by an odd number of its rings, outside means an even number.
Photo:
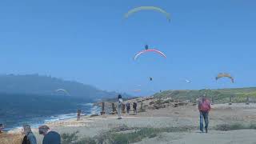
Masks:
[[[170,22],[170,14],[167,13],[165,10],[162,10],[162,8],[156,7],[156,6],[139,6],[139,7],[136,7],[132,10],[129,10],[125,14],[125,18],[129,18],[130,15],[132,15],[134,13],[137,13],[138,11],[141,11],[141,10],[154,10],[154,11],[160,12],[160,13],[164,14],[166,16],[167,20]]]

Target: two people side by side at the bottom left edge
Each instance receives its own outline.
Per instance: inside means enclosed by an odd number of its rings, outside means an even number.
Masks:
[[[38,132],[44,136],[42,144],[61,144],[60,134],[50,130],[48,126],[39,126]],[[37,144],[37,139],[35,138],[30,125],[23,125],[22,134],[25,134],[22,144]]]

